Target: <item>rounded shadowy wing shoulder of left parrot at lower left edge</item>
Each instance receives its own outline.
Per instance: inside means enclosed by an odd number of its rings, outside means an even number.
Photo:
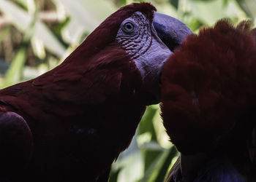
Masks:
[[[31,130],[21,116],[1,106],[0,118],[0,181],[15,181],[23,175],[31,157]]]

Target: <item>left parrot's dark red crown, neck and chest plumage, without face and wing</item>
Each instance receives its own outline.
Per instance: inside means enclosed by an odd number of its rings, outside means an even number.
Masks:
[[[22,171],[19,181],[95,181],[127,148],[147,98],[115,36],[125,18],[140,11],[152,20],[154,10],[146,3],[119,9],[60,66],[0,91],[2,107],[23,116],[33,135],[28,167],[12,171]]]

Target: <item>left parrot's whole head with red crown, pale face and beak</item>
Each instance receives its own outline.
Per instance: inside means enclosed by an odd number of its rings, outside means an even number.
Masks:
[[[122,7],[102,22],[65,62],[91,58],[93,62],[86,61],[86,70],[114,65],[116,60],[133,62],[140,72],[144,103],[159,103],[159,81],[165,61],[192,31],[181,21],[156,11],[148,3]],[[124,55],[127,57],[121,58]]]

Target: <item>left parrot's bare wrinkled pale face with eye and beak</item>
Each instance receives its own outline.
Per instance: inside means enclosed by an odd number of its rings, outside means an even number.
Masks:
[[[182,39],[192,33],[173,17],[151,13],[147,17],[143,12],[134,12],[121,23],[116,36],[118,44],[135,61],[145,94],[152,96],[148,104],[159,103],[159,80],[165,61]]]

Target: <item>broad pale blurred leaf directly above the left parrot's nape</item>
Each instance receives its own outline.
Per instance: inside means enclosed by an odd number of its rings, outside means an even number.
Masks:
[[[85,31],[93,31],[117,7],[111,1],[91,0],[54,0],[58,6],[63,6],[70,16],[69,25],[64,30],[65,39],[75,44]]]

